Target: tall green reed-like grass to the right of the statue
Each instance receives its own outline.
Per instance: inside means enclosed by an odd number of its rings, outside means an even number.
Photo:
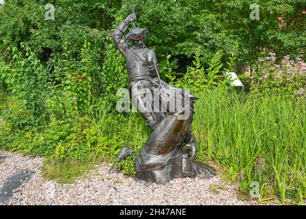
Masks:
[[[306,107],[282,96],[214,88],[197,95],[197,157],[214,159],[240,188],[260,183],[260,201],[306,198]],[[261,160],[260,160],[261,159]],[[240,175],[240,177],[238,177]]]

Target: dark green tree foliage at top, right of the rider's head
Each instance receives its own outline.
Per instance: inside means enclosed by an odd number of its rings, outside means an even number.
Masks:
[[[253,3],[260,6],[259,21],[250,18]],[[230,56],[236,40],[242,63],[256,62],[269,51],[279,57],[305,54],[305,1],[124,0],[122,5],[118,14],[124,16],[136,7],[139,25],[150,30],[148,45],[158,54],[193,57],[195,49],[200,49],[210,59],[222,49]]]

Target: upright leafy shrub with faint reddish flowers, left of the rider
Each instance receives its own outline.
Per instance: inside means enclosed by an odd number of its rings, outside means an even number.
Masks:
[[[79,59],[72,57],[68,47],[68,42],[65,42],[64,52],[50,60],[49,64],[54,68],[50,80],[57,88],[55,93],[62,90],[64,96],[76,103],[74,110],[77,113],[85,112],[102,91],[104,77],[99,64],[100,54],[87,40],[83,44]]]

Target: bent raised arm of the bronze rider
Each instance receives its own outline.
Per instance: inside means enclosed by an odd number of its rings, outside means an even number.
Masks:
[[[125,18],[113,31],[113,34],[111,34],[111,37],[113,38],[113,42],[117,45],[119,51],[124,55],[124,57],[127,56],[128,51],[128,44],[122,36],[126,32],[126,29],[128,29],[128,23],[136,21],[136,15],[130,14],[127,18]]]

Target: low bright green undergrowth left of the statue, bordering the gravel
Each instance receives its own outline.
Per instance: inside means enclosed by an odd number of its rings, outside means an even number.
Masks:
[[[60,118],[58,115],[62,112],[55,108],[55,105],[48,108],[48,112],[57,114],[57,117],[51,114],[48,123],[39,127],[26,126],[29,113],[25,107],[14,97],[1,93],[0,149],[48,156],[61,163],[91,161],[98,157],[113,159],[124,146],[137,153],[150,133],[140,114],[111,112],[109,99],[104,96],[87,116],[67,114]],[[131,133],[133,129],[137,129],[137,133]],[[130,166],[124,171],[130,172]]]

